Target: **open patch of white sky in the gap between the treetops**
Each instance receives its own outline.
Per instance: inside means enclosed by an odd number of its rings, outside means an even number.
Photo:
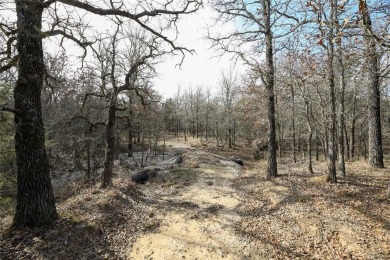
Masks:
[[[187,54],[181,68],[175,67],[180,62],[179,56],[159,64],[157,72],[160,76],[155,80],[155,89],[165,98],[173,97],[178,85],[181,85],[182,91],[190,85],[196,87],[200,84],[216,89],[221,72],[233,65],[231,57],[215,57],[215,51],[209,50],[211,43],[203,39],[207,24],[214,24],[212,16],[211,9],[205,6],[198,13],[187,15],[179,22],[178,42],[182,46],[194,49],[196,53]],[[224,25],[224,28],[212,27],[211,29],[228,30],[229,25]]]

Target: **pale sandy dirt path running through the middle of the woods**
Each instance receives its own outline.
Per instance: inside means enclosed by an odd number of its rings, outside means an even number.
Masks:
[[[130,259],[244,259],[245,241],[234,231],[241,198],[232,188],[242,167],[204,152],[194,152],[191,157],[187,160],[207,158],[213,163],[200,163],[196,182],[181,192],[160,196],[152,207],[162,224],[157,233],[135,242]],[[161,205],[176,207],[161,211]]]

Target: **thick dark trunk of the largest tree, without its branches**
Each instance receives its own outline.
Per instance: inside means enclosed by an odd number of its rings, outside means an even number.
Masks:
[[[41,226],[58,218],[45,148],[41,91],[44,73],[41,1],[15,1],[18,80],[15,99],[17,201],[14,227]]]

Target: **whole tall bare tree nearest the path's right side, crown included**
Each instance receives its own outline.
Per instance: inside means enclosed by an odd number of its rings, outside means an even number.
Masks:
[[[244,60],[265,86],[268,118],[267,176],[274,178],[277,176],[274,41],[281,40],[295,31],[299,25],[306,22],[305,17],[302,16],[303,19],[299,20],[294,17],[295,10],[290,12],[293,1],[276,3],[271,0],[258,2],[216,0],[213,6],[219,13],[218,21],[239,21],[240,24],[224,35],[209,33],[208,37],[213,41],[214,47],[222,50],[222,53],[233,53]],[[262,53],[265,55],[265,61],[261,58]]]

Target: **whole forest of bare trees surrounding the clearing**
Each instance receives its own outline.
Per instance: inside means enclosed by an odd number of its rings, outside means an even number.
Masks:
[[[349,174],[346,160],[385,167],[388,1],[210,1],[216,23],[236,24],[205,35],[217,55],[233,55],[231,69],[217,86],[168,86],[172,97],[155,91],[156,65],[192,54],[176,23],[203,3],[129,2],[0,3],[0,174],[17,179],[14,227],[58,218],[53,168],[106,188],[119,154],[155,150],[166,136],[250,146],[269,179],[278,158],[309,173],[327,160],[333,183]]]

